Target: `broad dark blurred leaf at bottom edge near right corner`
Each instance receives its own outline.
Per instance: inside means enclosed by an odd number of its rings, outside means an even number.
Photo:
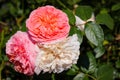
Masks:
[[[113,80],[113,67],[110,64],[102,65],[97,70],[97,80]]]

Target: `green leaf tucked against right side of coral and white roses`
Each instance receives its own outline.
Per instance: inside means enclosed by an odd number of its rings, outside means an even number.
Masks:
[[[78,36],[78,41],[80,42],[80,44],[82,43],[83,41],[83,34],[82,34],[82,31],[80,31],[76,26],[72,26],[70,28],[70,33],[69,35],[73,35],[73,34],[77,34]]]

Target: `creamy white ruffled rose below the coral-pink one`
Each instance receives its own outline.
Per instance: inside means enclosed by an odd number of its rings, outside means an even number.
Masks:
[[[70,36],[61,42],[40,46],[36,59],[35,73],[60,73],[76,64],[80,55],[80,43],[77,35]]]

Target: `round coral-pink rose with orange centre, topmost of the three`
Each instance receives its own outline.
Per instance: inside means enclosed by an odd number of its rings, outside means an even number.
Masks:
[[[66,38],[70,30],[67,15],[53,6],[32,11],[26,26],[32,40],[44,44]]]

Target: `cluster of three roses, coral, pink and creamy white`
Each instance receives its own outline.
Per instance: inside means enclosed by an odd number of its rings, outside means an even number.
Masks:
[[[17,31],[6,43],[6,54],[17,72],[33,75],[60,73],[77,63],[80,43],[69,35],[67,15],[53,6],[33,10],[27,32]]]

